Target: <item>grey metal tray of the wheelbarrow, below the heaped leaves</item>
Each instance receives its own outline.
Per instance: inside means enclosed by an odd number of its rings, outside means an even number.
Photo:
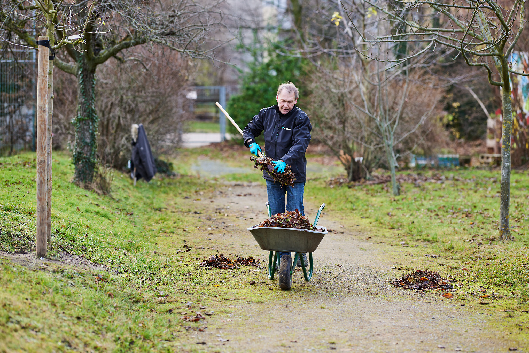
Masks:
[[[263,250],[314,252],[328,234],[325,227],[316,228],[322,231],[278,227],[251,227],[248,230]]]

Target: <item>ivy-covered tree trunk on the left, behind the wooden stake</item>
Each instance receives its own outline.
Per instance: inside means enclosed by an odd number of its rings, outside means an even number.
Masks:
[[[87,53],[79,53],[78,59],[78,95],[75,127],[73,161],[75,181],[92,183],[96,165],[97,128],[99,117],[95,109],[95,73],[96,66],[87,58]]]

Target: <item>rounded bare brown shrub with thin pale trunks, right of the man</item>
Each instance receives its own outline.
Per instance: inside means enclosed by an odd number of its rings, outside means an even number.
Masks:
[[[353,57],[339,69],[318,67],[310,76],[308,112],[316,121],[315,135],[340,158],[350,181],[368,177],[385,155],[393,193],[398,195],[397,158],[431,149],[432,135],[441,128],[432,117],[438,113],[442,90],[432,88],[436,79],[424,70],[389,72],[377,70],[378,64],[372,61],[363,70]]]

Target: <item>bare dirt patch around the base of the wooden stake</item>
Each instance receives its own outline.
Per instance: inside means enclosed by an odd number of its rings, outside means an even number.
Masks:
[[[68,252],[59,252],[58,260],[51,259],[38,259],[35,257],[34,252],[11,252],[11,251],[0,251],[0,257],[10,259],[14,263],[25,267],[34,267],[40,264],[56,264],[60,266],[72,266],[80,268],[83,270],[104,270],[104,271],[114,271],[115,270],[108,268],[105,265],[96,264],[92,261],[85,259],[84,257],[77,256],[74,254],[68,254]],[[116,272],[117,273],[117,272]]]

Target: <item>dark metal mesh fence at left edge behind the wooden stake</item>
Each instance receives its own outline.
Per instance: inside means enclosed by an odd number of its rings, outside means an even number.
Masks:
[[[0,57],[0,155],[35,149],[35,51],[11,49]]]

